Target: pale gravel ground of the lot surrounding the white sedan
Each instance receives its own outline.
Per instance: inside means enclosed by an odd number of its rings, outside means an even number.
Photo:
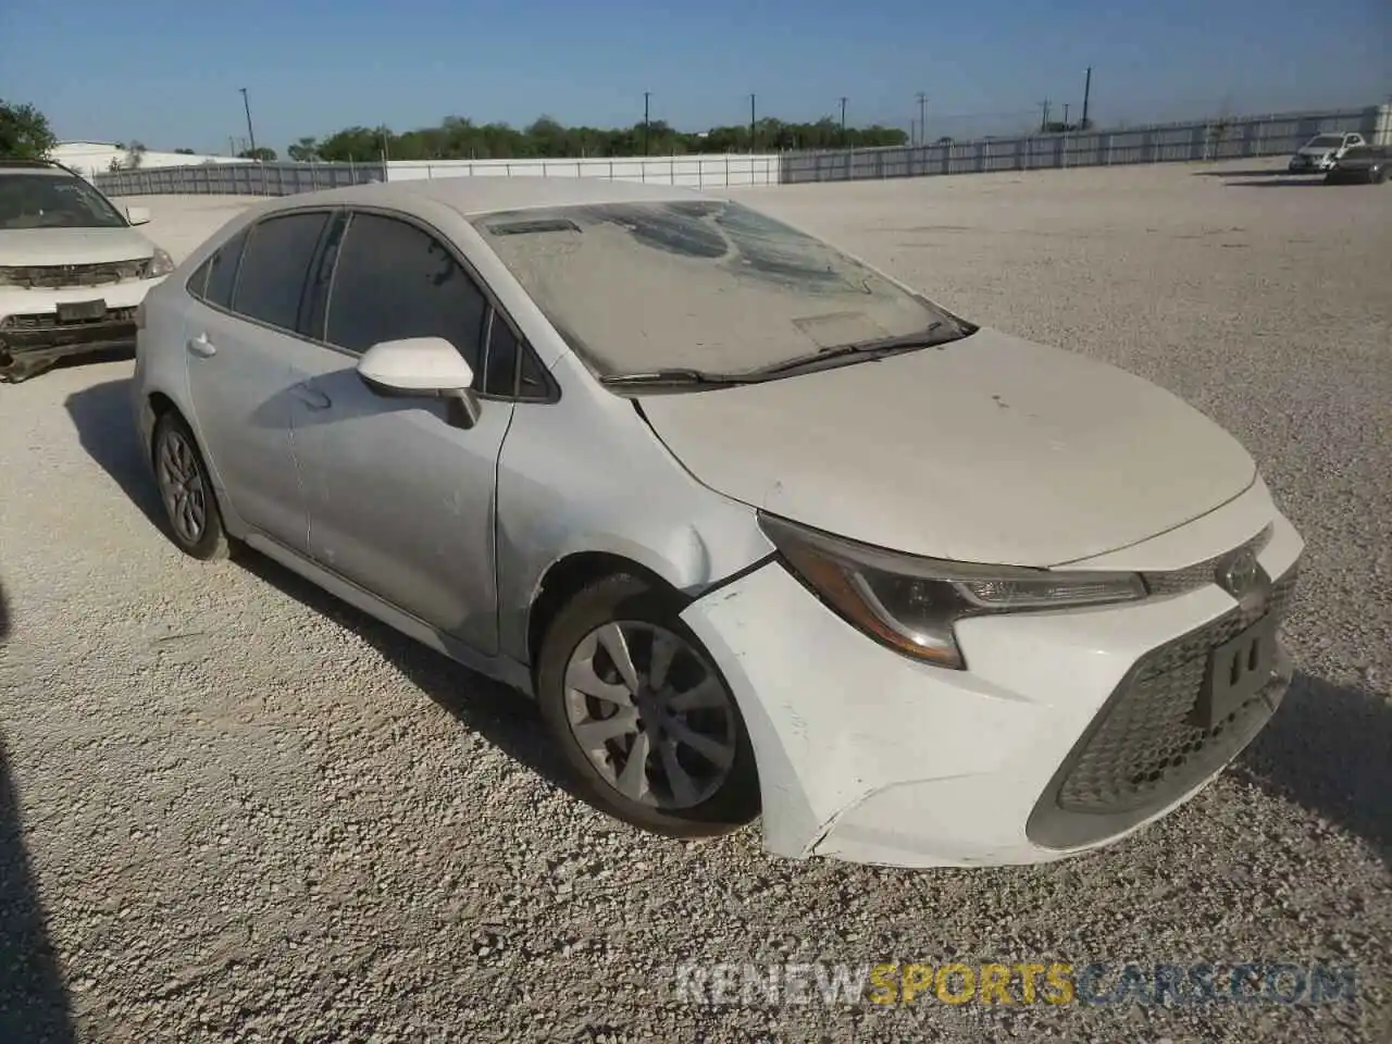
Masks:
[[[131,363],[0,387],[0,1040],[1392,1040],[1392,188],[1270,164],[748,192],[970,319],[1119,363],[1308,541],[1279,715],[1105,852],[771,862],[575,800],[530,707],[152,522]],[[177,256],[239,205],[149,199]],[[1141,476],[1143,480],[1143,476]],[[1329,960],[1320,1006],[674,995],[677,962]]]

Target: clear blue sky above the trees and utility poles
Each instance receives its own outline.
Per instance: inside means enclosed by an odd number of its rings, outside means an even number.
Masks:
[[[1006,132],[1050,97],[1100,122],[1363,106],[1392,0],[0,0],[0,97],[61,139],[227,149],[448,114],[697,129],[759,111]]]

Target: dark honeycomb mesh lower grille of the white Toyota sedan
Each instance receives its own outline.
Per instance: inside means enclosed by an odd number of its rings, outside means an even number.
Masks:
[[[1197,785],[1212,757],[1242,742],[1243,728],[1271,713],[1257,693],[1212,728],[1194,724],[1208,653],[1267,614],[1283,619],[1296,587],[1292,567],[1265,604],[1239,607],[1147,653],[1114,695],[1058,788],[1070,813],[1125,813],[1161,803]]]

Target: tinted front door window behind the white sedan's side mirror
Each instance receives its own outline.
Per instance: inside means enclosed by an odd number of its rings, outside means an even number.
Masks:
[[[434,237],[413,224],[354,214],[338,248],[324,340],[354,352],[404,337],[443,337],[473,367],[487,302]]]

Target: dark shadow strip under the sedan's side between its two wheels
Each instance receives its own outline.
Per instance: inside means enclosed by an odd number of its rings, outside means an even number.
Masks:
[[[547,741],[536,703],[526,696],[406,638],[256,551],[235,548],[232,561],[310,611],[355,633],[466,729],[483,736],[553,786],[585,800],[575,789],[565,763]]]

